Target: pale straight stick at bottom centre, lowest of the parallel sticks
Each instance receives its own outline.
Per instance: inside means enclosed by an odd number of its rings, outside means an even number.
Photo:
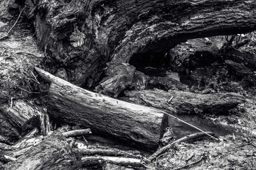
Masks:
[[[105,156],[90,156],[82,157],[83,165],[90,164],[105,164],[106,162],[119,165],[144,166],[141,159],[127,157],[105,157]]]

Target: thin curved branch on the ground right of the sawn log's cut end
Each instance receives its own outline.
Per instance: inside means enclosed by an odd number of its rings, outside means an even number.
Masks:
[[[207,132],[207,133],[210,135],[214,135],[213,132]],[[194,140],[198,137],[205,137],[205,136],[207,136],[206,133],[198,132],[195,134],[186,135],[185,137],[181,137],[180,139],[178,139],[174,142],[171,142],[170,144],[165,145],[164,147],[157,149],[156,152],[154,152],[154,154],[151,154],[151,156],[148,159],[149,159],[149,161],[153,161],[154,159],[156,159],[156,157],[158,157],[160,154],[163,154],[164,152],[166,152],[169,148],[171,148],[171,146],[173,146],[176,143],[186,142],[188,140]]]

